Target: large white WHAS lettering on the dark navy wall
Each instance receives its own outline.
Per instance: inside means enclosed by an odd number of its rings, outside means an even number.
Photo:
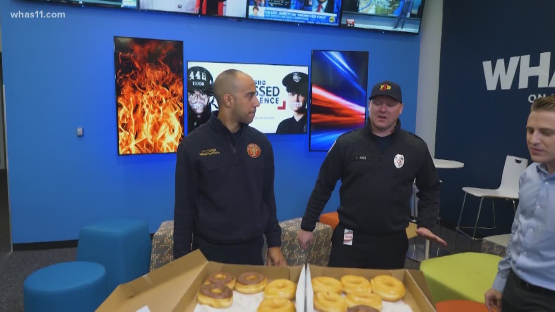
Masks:
[[[530,55],[516,56],[509,58],[508,66],[505,59],[497,59],[495,67],[492,61],[482,62],[484,77],[486,78],[486,88],[488,91],[497,90],[501,86],[501,90],[509,90],[513,87],[514,76],[519,68],[518,89],[528,89],[528,81],[531,77],[538,77],[538,88],[555,88],[555,73],[551,72],[551,52],[539,54],[539,65],[530,65]],[[555,62],[555,60],[554,60]],[[538,97],[545,97],[548,93],[531,94],[528,102],[532,103]]]

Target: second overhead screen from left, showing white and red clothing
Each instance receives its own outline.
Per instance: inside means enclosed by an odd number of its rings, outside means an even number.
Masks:
[[[142,10],[245,17],[247,0],[139,0]]]

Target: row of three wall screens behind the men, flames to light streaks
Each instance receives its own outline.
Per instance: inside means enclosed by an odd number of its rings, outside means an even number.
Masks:
[[[368,65],[367,51],[312,51],[310,66],[189,61],[184,69],[183,41],[114,37],[118,154],[175,153],[218,109],[214,80],[227,69],[255,82],[251,127],[308,134],[310,150],[327,151],[365,125]]]

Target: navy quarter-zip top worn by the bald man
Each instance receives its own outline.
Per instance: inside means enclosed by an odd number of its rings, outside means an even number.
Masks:
[[[269,247],[281,245],[270,141],[249,125],[232,134],[218,111],[177,151],[175,259],[191,251],[193,235],[216,245],[241,245],[266,235]]]

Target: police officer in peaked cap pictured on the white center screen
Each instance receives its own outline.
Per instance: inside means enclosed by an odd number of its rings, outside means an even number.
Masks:
[[[309,93],[309,76],[305,73],[290,73],[282,82],[287,90],[287,103],[293,117],[281,120],[276,133],[306,133],[306,105]]]

